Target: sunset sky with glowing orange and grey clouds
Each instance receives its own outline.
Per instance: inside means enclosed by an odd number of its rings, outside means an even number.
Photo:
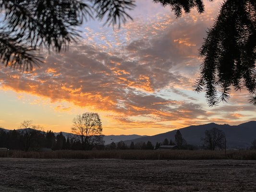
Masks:
[[[193,85],[202,58],[198,49],[222,0],[206,11],[176,19],[170,8],[137,0],[133,21],[121,28],[89,21],[68,51],[47,52],[33,72],[0,67],[0,126],[17,129],[33,120],[45,131],[71,132],[73,118],[99,113],[103,134],[155,135],[190,125],[237,125],[256,120],[246,90],[208,107]]]

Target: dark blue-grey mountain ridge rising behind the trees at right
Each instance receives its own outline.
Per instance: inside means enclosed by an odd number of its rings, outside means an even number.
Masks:
[[[188,144],[202,145],[201,138],[205,136],[205,131],[210,130],[213,127],[222,130],[226,134],[227,147],[228,148],[247,148],[251,145],[251,142],[256,139],[256,121],[249,121],[240,125],[219,125],[216,123],[208,123],[205,125],[193,125],[180,129],[183,138]],[[174,141],[174,135],[177,130],[157,134],[154,136],[141,137],[132,140],[124,141],[127,145],[137,142],[147,142],[150,141],[153,144],[157,142],[162,142],[165,138],[169,141],[170,139]]]

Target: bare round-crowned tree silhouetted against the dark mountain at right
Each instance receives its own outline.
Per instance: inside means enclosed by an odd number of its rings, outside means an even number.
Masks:
[[[205,138],[202,138],[204,144],[209,150],[215,150],[216,147],[223,148],[225,145],[225,133],[217,128],[206,130]]]

